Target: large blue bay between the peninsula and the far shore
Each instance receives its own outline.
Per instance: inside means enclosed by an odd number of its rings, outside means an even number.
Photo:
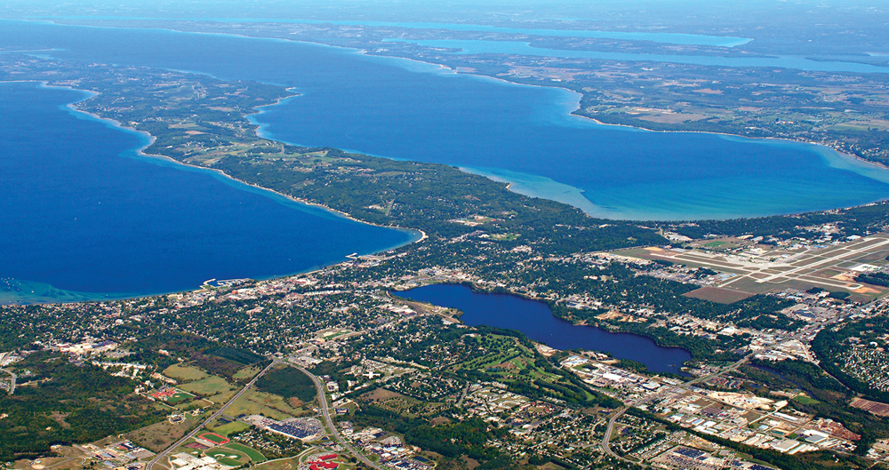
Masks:
[[[410,60],[164,30],[24,21],[0,21],[0,27],[0,44],[52,48],[46,53],[61,60],[291,86],[300,96],[253,116],[262,135],[457,165],[599,217],[728,219],[847,207],[889,195],[889,171],[826,147],[600,125],[570,115],[578,101],[573,92],[457,75]]]

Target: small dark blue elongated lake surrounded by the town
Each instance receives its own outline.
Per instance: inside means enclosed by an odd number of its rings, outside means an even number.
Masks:
[[[643,336],[565,322],[543,302],[516,295],[478,293],[459,284],[435,284],[394,293],[405,299],[457,308],[463,312],[461,320],[468,325],[522,331],[528,338],[556,349],[604,351],[620,359],[642,362],[654,372],[679,373],[682,363],[692,358],[684,349],[660,347]]]

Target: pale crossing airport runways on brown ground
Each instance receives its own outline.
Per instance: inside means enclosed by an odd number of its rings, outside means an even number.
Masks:
[[[883,251],[886,249],[885,245],[887,244],[889,244],[889,239],[886,238],[885,234],[874,235],[849,245],[831,247],[826,250],[809,249],[793,255],[789,259],[777,262],[781,264],[757,263],[740,258],[726,259],[727,257],[723,254],[701,251],[687,251],[675,254],[651,253],[651,256],[685,261],[738,274],[738,276],[725,281],[725,283],[719,284],[719,287],[725,287],[745,277],[749,277],[757,283],[785,283],[796,279],[848,289],[850,288],[849,283],[832,281],[823,277],[813,276],[812,274],[828,267],[837,267],[839,264],[854,262],[877,251]],[[790,259],[793,262],[788,263]],[[855,288],[854,285],[851,287]],[[859,285],[858,287],[861,286]]]

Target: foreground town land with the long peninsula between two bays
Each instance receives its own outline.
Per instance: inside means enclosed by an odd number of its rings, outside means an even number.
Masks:
[[[284,87],[13,54],[0,80],[96,92],[76,108],[147,131],[148,155],[427,235],[307,275],[0,307],[0,460],[12,467],[794,469],[889,457],[875,326],[884,203],[593,219],[446,165],[261,139],[246,116]],[[608,351],[558,351],[402,293],[433,283],[533,299],[691,361],[656,374]]]

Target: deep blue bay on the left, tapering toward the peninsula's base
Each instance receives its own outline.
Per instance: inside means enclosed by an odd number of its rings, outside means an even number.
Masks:
[[[86,96],[0,84],[0,303],[287,275],[416,239],[138,155],[147,136],[65,106]]]

